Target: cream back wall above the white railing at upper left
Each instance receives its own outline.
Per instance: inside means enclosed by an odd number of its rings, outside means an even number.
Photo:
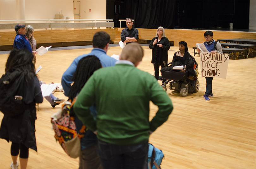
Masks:
[[[19,4],[19,1],[25,1],[24,19],[26,20],[54,19],[55,14],[59,14],[59,9],[62,9],[64,19],[66,17],[74,19],[73,0],[1,0],[0,20],[19,19],[15,12],[18,10],[16,4]],[[80,19],[106,19],[106,0],[80,1]],[[91,9],[91,12],[89,12],[89,9]]]

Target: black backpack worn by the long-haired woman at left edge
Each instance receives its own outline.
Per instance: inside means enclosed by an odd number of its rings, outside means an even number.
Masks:
[[[25,73],[21,69],[12,69],[0,79],[0,111],[10,117],[24,112],[23,91]]]

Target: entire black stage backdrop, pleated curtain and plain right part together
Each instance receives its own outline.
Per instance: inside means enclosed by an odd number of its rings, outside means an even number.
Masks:
[[[248,29],[250,0],[125,0],[135,28]],[[122,18],[125,19],[125,18]]]

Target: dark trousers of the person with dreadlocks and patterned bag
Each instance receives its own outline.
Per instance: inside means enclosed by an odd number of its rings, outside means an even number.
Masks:
[[[79,169],[102,169],[100,156],[97,154],[98,144],[81,150]]]

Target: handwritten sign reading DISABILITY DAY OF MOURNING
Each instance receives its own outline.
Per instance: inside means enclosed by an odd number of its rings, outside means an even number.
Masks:
[[[221,53],[200,53],[200,69],[202,77],[226,79],[229,55]]]

